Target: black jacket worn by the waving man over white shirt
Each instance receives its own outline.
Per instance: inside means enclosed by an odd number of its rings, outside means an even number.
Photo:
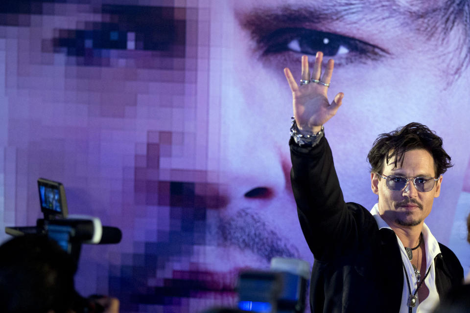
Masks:
[[[314,147],[291,139],[291,181],[297,212],[315,262],[310,280],[313,313],[400,311],[403,268],[395,233],[378,229],[362,205],[343,200],[326,138]],[[463,281],[455,254],[439,244],[434,262],[442,297]]]

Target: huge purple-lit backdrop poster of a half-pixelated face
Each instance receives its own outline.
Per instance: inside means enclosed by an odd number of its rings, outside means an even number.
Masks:
[[[313,262],[290,190],[282,69],[334,58],[325,127],[346,201],[372,208],[367,153],[416,121],[454,167],[426,224],[470,266],[469,1],[2,0],[1,229],[69,213],[118,226],[84,246],[76,287],[121,312],[235,306],[243,268]],[[313,59],[313,57],[311,57]],[[2,233],[0,239],[7,239]],[[319,238],[318,240],[322,240]]]

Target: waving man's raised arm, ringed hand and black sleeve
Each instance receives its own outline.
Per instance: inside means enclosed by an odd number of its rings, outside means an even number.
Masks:
[[[318,52],[308,84],[305,84],[310,77],[306,56],[302,57],[303,85],[297,84],[288,68],[284,69],[292,90],[294,117],[304,134],[318,133],[335,115],[343,99],[340,92],[329,103],[327,86],[333,60],[328,61],[321,76],[322,57]],[[375,222],[362,206],[345,203],[328,141],[321,136],[313,141],[313,146],[300,146],[291,139],[292,191],[300,225],[315,259],[334,260],[360,248],[368,238],[364,234],[370,233]]]

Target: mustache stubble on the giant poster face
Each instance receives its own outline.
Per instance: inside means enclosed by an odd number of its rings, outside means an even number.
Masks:
[[[270,262],[273,257],[296,258],[299,251],[281,238],[270,225],[249,209],[240,209],[234,216],[221,218],[215,230],[218,245],[249,250]]]

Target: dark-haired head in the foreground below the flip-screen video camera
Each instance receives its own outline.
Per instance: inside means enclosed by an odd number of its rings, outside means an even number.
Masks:
[[[47,236],[15,237],[0,246],[0,312],[55,313],[73,307],[76,263]]]

